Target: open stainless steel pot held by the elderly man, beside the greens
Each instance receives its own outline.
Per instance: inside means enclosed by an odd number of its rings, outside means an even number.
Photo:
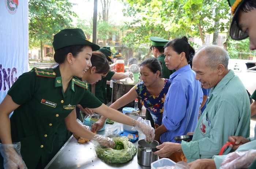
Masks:
[[[138,141],[137,158],[138,163],[144,166],[150,166],[151,162],[157,161],[158,156],[153,154],[153,149],[158,146],[159,143],[153,140],[151,143],[147,143],[144,139]]]

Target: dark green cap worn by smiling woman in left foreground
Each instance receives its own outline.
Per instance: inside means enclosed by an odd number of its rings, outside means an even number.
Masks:
[[[84,32],[79,28],[61,30],[54,35],[52,45],[54,51],[74,45],[89,45],[93,51],[99,50],[99,46],[86,39]]]

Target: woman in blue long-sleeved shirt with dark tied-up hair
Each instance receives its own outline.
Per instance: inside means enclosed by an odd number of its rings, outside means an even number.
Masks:
[[[188,39],[185,36],[174,39],[164,48],[166,67],[176,71],[170,75],[172,84],[164,103],[162,125],[155,130],[155,140],[161,143],[180,142],[174,137],[195,130],[203,93],[200,82],[195,79],[196,73],[189,65],[195,50]],[[180,152],[173,153],[170,159],[175,162],[186,160]]]

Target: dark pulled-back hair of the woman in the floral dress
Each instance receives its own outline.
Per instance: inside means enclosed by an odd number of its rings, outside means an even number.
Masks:
[[[153,73],[159,70],[159,77],[162,77],[162,66],[156,58],[147,58],[140,63],[140,66],[147,66]]]

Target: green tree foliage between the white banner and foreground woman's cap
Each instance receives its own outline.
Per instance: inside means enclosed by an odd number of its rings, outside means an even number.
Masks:
[[[71,16],[77,16],[72,5],[68,0],[29,0],[29,46],[51,43],[54,34],[71,28]]]

